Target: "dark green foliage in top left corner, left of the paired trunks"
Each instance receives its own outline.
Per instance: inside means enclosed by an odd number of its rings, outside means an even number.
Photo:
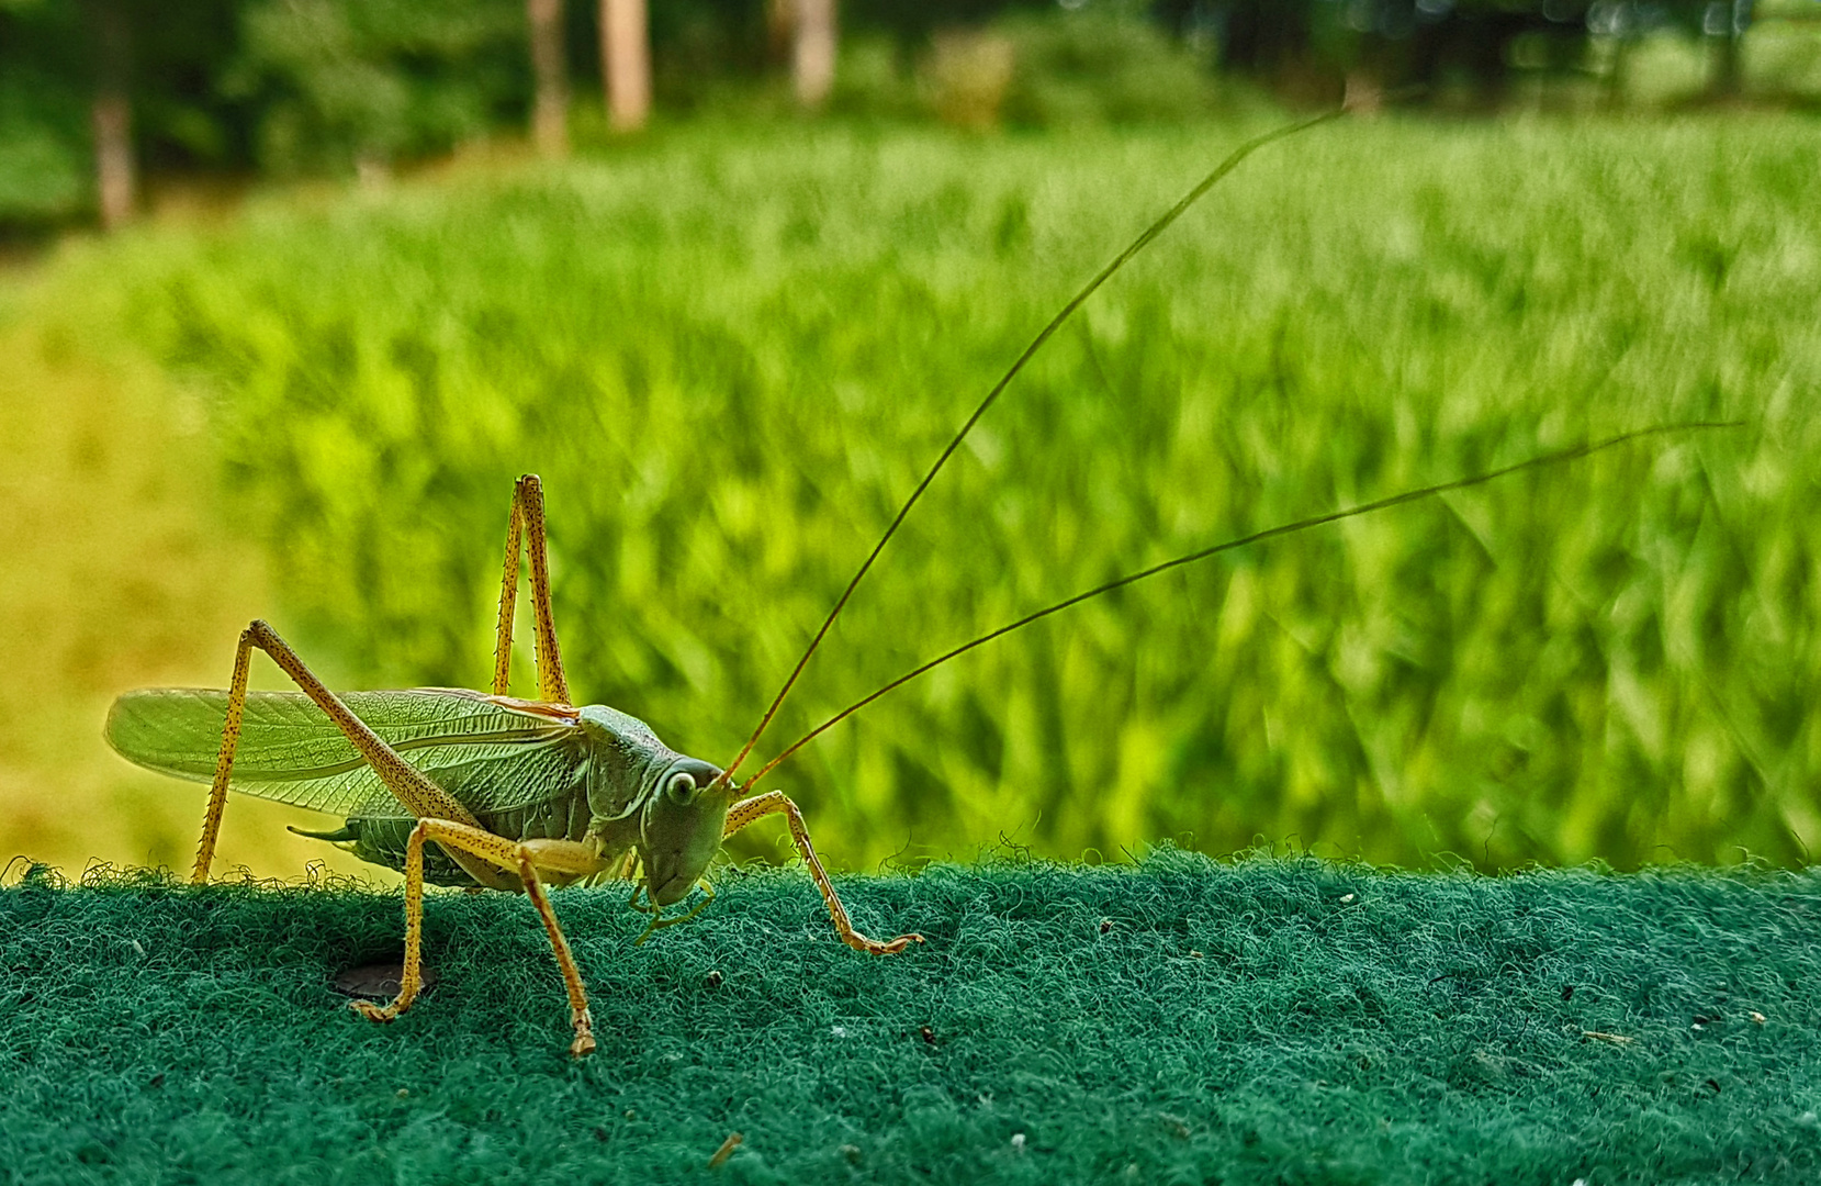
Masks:
[[[337,169],[523,118],[517,0],[111,0],[129,38],[138,162]],[[0,0],[0,224],[93,204],[93,5]]]

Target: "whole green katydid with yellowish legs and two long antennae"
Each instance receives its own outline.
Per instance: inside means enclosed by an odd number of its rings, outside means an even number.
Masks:
[[[406,878],[406,949],[399,993],[386,1006],[353,1004],[357,1011],[373,1020],[392,1020],[410,1007],[421,991],[426,880],[523,891],[543,918],[568,989],[574,1028],[570,1051],[586,1055],[595,1046],[586,991],[544,885],[612,876],[632,880],[632,902],[637,904],[643,895],[643,909],[648,909],[652,916],[645,931],[650,935],[656,927],[692,918],[707,905],[712,891],[707,889],[701,876],[719,851],[723,836],[768,814],[787,818],[796,849],[821,891],[843,942],[872,955],[890,955],[914,942],[923,942],[914,933],[878,942],[856,931],[834,884],[816,856],[796,803],[781,791],[750,794],[765,774],[810,740],[940,663],[1031,621],[1167,568],[1267,537],[1491,481],[1515,470],[1568,461],[1639,435],[1695,426],[1646,428],[1533,457],[1501,470],[1287,523],[1109,581],[916,667],[812,729],[754,776],[738,782],[738,769],[752,754],[778,707],[827,638],[860,581],[963,437],[1036,350],[1100,284],[1124,268],[1133,255],[1249,153],[1337,115],[1338,111],[1302,120],[1238,148],[1051,319],[954,434],[898,510],[803,650],[745,747],[725,769],[670,751],[643,721],[625,712],[605,705],[574,707],[550,603],[543,486],[535,475],[521,477],[514,488],[495,632],[493,680],[488,692],[412,689],[337,694],[310,672],[271,627],[264,621],[253,621],[240,634],[229,689],[127,692],[115,701],[109,712],[106,729],[109,743],[144,767],[211,783],[202,840],[191,874],[195,882],[208,880],[229,789],[342,814],[344,825],[341,829],[306,834],[342,842],[364,860],[402,869]],[[521,556],[530,559],[537,700],[508,696]],[[264,650],[300,690],[249,692],[248,667],[255,649]],[[701,902],[679,916],[666,916],[665,909],[688,898],[697,884],[705,889]]]

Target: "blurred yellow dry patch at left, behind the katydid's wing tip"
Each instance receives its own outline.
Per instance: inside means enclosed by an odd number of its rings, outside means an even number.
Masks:
[[[127,765],[102,720],[131,687],[222,685],[268,583],[226,530],[200,408],[100,353],[31,319],[0,330],[0,864],[188,871],[202,787]],[[320,820],[237,798],[217,874],[381,873],[284,831]]]

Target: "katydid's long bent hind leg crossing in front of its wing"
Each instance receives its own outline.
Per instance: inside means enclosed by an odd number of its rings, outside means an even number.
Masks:
[[[412,814],[419,818],[437,818],[437,820],[457,820],[468,823],[470,827],[479,827],[481,822],[461,805],[455,796],[430,782],[430,778],[413,767],[410,762],[399,756],[395,749],[386,745],[386,741],[373,732],[366,721],[353,714],[353,711],[341,701],[315,672],[311,672],[297,652],[279,638],[277,630],[260,619],[248,623],[246,630],[240,630],[240,641],[235,647],[233,659],[233,685],[228,689],[228,718],[222,723],[222,747],[215,758],[215,780],[209,783],[209,807],[202,820],[202,842],[197,845],[197,865],[189,874],[191,882],[209,880],[209,864],[215,860],[215,843],[220,836],[222,809],[228,802],[228,785],[233,778],[233,754],[240,743],[240,723],[246,712],[246,681],[248,665],[253,656],[253,649],[259,647],[271,661],[284,670],[299,689],[304,690],[310,700],[317,703],[322,712],[328,714],[331,721],[346,734],[359,751],[361,758],[366,760],[379,780],[386,783],[386,789],[399,796]],[[464,853],[450,853],[455,862],[473,876],[475,882],[490,885],[493,889],[510,889],[512,884],[501,878],[499,873],[486,862],[475,860]]]

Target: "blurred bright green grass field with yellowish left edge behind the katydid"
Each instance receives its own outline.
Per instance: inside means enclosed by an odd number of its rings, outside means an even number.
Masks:
[[[222,683],[253,614],[341,687],[484,683],[526,470],[575,694],[727,762],[1003,366],[1260,128],[692,128],[71,244],[4,326],[0,481],[27,514],[0,528],[0,849],[180,865],[198,789],[115,762],[100,716]],[[845,867],[1162,838],[1806,864],[1817,149],[1797,117],[1386,118],[1260,153],[982,423],[761,751],[1229,536],[1646,424],[1748,426],[1124,590],[770,785]],[[228,818],[228,862],[330,854],[280,831],[300,816]]]

